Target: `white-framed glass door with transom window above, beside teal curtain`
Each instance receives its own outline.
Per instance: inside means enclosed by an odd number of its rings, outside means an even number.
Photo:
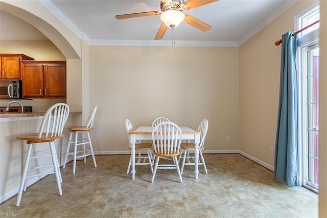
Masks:
[[[297,18],[297,29],[319,20],[319,6]],[[318,191],[319,23],[298,34],[300,185]]]

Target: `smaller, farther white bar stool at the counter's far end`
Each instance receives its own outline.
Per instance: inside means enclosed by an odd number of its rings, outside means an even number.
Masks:
[[[84,163],[86,163],[86,158],[91,155],[92,159],[93,159],[94,166],[97,167],[96,157],[94,155],[93,146],[92,146],[92,142],[91,142],[91,137],[90,137],[90,133],[89,133],[90,130],[93,129],[93,123],[94,123],[94,118],[96,116],[97,108],[98,108],[98,106],[95,106],[92,109],[92,111],[90,112],[84,126],[68,126],[68,130],[69,130],[69,132],[71,132],[71,134],[69,134],[69,140],[68,140],[68,144],[67,144],[65,160],[64,160],[64,164],[63,164],[62,168],[66,167],[68,155],[73,156],[73,174],[75,174],[75,171],[76,171],[76,159],[78,159],[78,158],[83,158]],[[82,139],[81,140],[78,140],[78,134],[79,133],[82,134]],[[72,141],[72,138],[73,138],[74,134],[75,134],[75,140]],[[86,134],[87,137],[85,137],[85,134]],[[73,152],[69,151],[69,148],[71,147],[71,144],[74,144],[74,151]],[[89,145],[89,149],[87,149],[85,147],[86,144]],[[80,145],[82,145],[82,149],[78,151],[77,147],[80,146]],[[80,154],[80,153],[82,153],[82,154],[77,156],[77,154]]]

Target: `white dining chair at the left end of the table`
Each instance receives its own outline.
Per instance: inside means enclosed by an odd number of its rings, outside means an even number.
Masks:
[[[131,130],[133,130],[133,125],[129,119],[127,119],[125,121],[125,127],[126,127],[126,132],[128,135],[127,136],[128,143],[129,143],[128,149],[131,150],[132,148],[131,148],[131,143],[129,140],[130,136],[128,133],[131,132]],[[153,173],[151,147],[152,147],[151,143],[142,143],[141,141],[139,141],[135,144],[135,152],[138,151],[138,157],[137,158],[135,157],[135,160],[137,159],[137,161],[135,162],[135,165],[150,165],[151,172]],[[142,151],[147,151],[147,156],[142,156],[142,154],[141,154]],[[146,162],[146,160],[148,160],[148,163]],[[129,163],[128,163],[127,172],[126,172],[127,175],[129,173],[129,169],[130,169],[131,165],[132,165],[132,156],[129,158]]]

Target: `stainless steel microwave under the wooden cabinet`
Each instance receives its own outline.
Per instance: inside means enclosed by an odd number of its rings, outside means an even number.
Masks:
[[[0,79],[0,99],[21,98],[21,80]]]

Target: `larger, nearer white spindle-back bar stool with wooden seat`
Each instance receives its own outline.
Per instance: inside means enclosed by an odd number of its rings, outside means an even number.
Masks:
[[[49,175],[55,173],[57,186],[59,190],[59,195],[62,195],[61,183],[62,178],[60,174],[60,165],[57,157],[57,152],[55,148],[55,140],[63,137],[63,128],[66,123],[66,120],[69,115],[69,107],[65,103],[57,103],[52,105],[49,110],[44,114],[43,119],[41,121],[41,125],[38,133],[32,133],[22,136],[17,136],[18,140],[27,140],[27,144],[29,144],[24,170],[22,172],[21,181],[18,190],[17,203],[18,207],[21,200],[21,195],[23,190],[26,191],[28,178],[32,177],[41,177],[45,175]],[[34,145],[37,143],[49,142],[50,150],[34,150]],[[40,145],[41,146],[41,145]],[[43,145],[44,146],[44,145]],[[52,164],[49,165],[49,161],[46,161],[46,157],[52,158]],[[35,164],[38,166],[33,166],[31,164],[31,159],[41,159],[39,161],[35,161]],[[40,165],[44,163],[45,165]],[[31,165],[33,167],[31,167]],[[39,172],[40,169],[44,168],[45,172]],[[53,171],[49,172],[46,168],[52,169]],[[34,175],[30,175],[30,170],[35,169],[37,172]],[[33,170],[34,171],[34,170]]]

